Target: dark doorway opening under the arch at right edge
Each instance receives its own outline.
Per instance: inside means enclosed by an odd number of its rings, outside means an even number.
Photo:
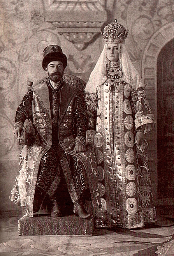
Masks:
[[[158,198],[174,198],[174,40],[157,61]]]

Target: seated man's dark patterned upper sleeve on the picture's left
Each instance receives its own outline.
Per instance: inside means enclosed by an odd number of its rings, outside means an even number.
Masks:
[[[33,92],[29,90],[16,111],[15,124],[23,124],[27,118],[32,118]]]

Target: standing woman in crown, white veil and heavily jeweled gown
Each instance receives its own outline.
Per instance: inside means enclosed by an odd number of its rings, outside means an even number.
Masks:
[[[155,120],[124,46],[127,34],[116,20],[105,26],[104,49],[86,85],[92,118],[97,106],[95,152],[102,197],[97,227],[139,228],[156,221],[144,140]]]

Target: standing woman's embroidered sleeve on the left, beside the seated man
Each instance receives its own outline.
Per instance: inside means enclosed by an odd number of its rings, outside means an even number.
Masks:
[[[86,103],[87,115],[88,115],[88,130],[95,130],[97,119],[97,94],[89,93],[85,91],[84,100]]]

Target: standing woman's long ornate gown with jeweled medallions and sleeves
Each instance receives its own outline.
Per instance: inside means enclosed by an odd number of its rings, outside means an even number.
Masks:
[[[86,104],[91,127],[97,118],[94,142],[102,208],[96,226],[138,228],[155,222],[147,141],[139,149],[135,145],[135,131],[146,133],[155,124],[144,88],[134,90],[121,77],[107,76],[96,94],[86,92]]]

